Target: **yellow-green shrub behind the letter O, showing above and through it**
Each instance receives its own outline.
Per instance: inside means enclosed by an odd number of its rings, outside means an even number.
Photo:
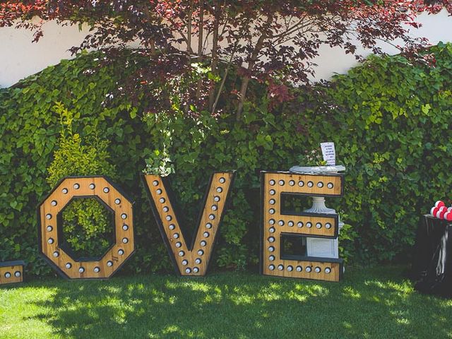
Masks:
[[[73,121],[80,118],[80,114],[69,112],[61,102],[53,108],[59,115],[61,132],[54,160],[48,168],[49,185],[56,186],[61,179],[71,176],[106,175],[115,178],[114,165],[108,162],[109,142],[100,140],[96,130],[97,120],[87,136],[87,142],[83,143],[80,134],[73,132]],[[109,212],[97,199],[72,201],[64,208],[62,217],[64,240],[77,256],[102,256],[112,243],[112,230],[108,228],[111,227]]]

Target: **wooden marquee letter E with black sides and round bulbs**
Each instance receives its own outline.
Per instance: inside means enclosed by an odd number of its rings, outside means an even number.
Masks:
[[[261,172],[261,273],[287,278],[339,281],[343,260],[283,255],[281,237],[338,237],[338,215],[283,214],[281,195],[342,196],[343,174]]]

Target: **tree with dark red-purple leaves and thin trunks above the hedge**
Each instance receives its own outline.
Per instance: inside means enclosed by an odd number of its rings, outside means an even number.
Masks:
[[[234,73],[240,120],[251,80],[268,85],[270,104],[285,102],[291,97],[288,83],[309,84],[323,44],[359,59],[358,47],[382,54],[380,43],[388,42],[407,57],[420,57],[427,41],[408,30],[419,26],[418,13],[442,6],[452,5],[447,0],[6,0],[0,1],[0,27],[33,30],[38,41],[47,20],[87,24],[85,39],[71,48],[74,54],[105,49],[114,58],[121,49],[138,46],[135,52],[155,67],[140,69],[118,91],[133,97],[137,88],[148,86],[155,99],[149,112],[179,107],[194,116],[201,110],[218,114],[225,81]],[[31,20],[36,16],[40,20]],[[156,90],[156,79],[168,85]]]

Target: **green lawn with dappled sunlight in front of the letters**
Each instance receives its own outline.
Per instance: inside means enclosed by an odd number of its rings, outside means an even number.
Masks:
[[[452,338],[452,300],[406,268],[350,268],[341,283],[251,273],[59,278],[0,287],[0,338]]]

